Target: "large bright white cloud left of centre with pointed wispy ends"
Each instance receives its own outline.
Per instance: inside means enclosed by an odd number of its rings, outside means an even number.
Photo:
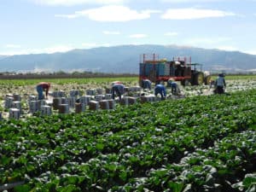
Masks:
[[[160,13],[158,10],[137,10],[130,9],[120,5],[102,6],[96,9],[85,9],[82,11],[76,11],[72,15],[55,15],[56,17],[65,17],[73,19],[77,17],[88,17],[90,20],[96,21],[129,21],[129,20],[146,20],[150,18],[151,14]]]

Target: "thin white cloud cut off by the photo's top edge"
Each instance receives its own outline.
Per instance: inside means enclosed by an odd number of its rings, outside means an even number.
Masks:
[[[33,3],[49,6],[73,6],[78,4],[117,4],[126,0],[30,0]]]

